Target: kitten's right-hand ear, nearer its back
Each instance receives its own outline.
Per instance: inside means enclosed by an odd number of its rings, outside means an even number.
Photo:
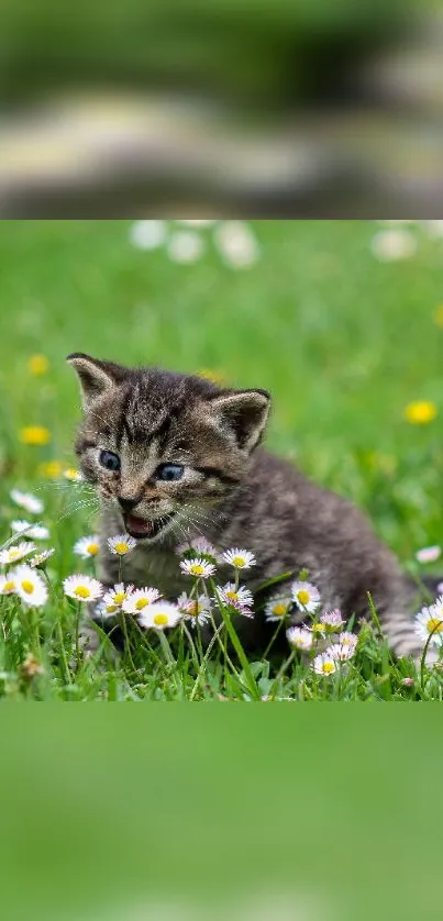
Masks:
[[[236,390],[211,400],[218,423],[229,429],[248,454],[258,444],[266,425],[270,396],[266,390]]]

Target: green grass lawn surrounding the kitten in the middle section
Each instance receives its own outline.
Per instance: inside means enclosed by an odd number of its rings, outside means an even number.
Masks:
[[[115,662],[103,640],[95,659],[80,655],[77,662],[77,611],[63,598],[60,580],[90,570],[89,562],[79,566],[73,545],[92,532],[95,519],[89,507],[76,508],[82,488],[48,477],[45,467],[74,464],[79,400],[64,360],[69,352],[209,368],[233,386],[269,389],[270,448],[365,509],[411,572],[418,572],[414,552],[441,541],[443,329],[435,311],[443,302],[443,241],[417,224],[416,255],[385,264],[372,253],[378,228],[369,222],[253,226],[262,257],[234,271],[222,263],[209,231],[203,258],[184,266],[163,249],[134,248],[126,222],[0,225],[0,543],[10,536],[11,519],[25,517],[9,498],[19,487],[43,498],[56,548],[48,565],[53,593],[38,618],[1,599],[3,693],[68,700],[269,693],[441,699],[439,670],[421,674],[410,662],[394,663],[374,621],[353,665],[329,679],[314,676],[297,656],[280,672],[268,661],[242,656],[231,667],[220,647],[201,666],[199,651],[192,656],[179,639],[166,654],[137,636],[132,662],[128,654]],[[49,362],[40,377],[29,370],[34,354]],[[403,412],[413,400],[434,402],[439,414],[427,425],[410,424]],[[49,443],[21,444],[25,425],[47,426]],[[43,674],[26,677],[29,653]],[[413,685],[406,686],[405,677],[413,677]]]

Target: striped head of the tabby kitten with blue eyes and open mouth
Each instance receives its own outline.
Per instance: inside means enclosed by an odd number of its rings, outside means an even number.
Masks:
[[[76,441],[82,474],[119,503],[134,537],[182,534],[197,510],[201,517],[247,477],[269,411],[265,390],[221,389],[81,353],[68,362],[85,412]]]

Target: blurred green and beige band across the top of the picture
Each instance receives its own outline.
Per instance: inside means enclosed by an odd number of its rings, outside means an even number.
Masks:
[[[434,217],[438,0],[3,0],[3,217]]]

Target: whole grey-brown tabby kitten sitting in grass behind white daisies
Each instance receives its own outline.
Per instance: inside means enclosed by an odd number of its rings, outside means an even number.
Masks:
[[[220,550],[253,551],[257,566],[244,573],[253,591],[306,568],[324,607],[340,608],[346,620],[368,617],[370,592],[391,650],[420,656],[410,613],[417,590],[365,518],[259,446],[270,404],[265,390],[220,388],[82,353],[68,362],[85,412],[76,452],[101,497],[106,585],[119,576],[107,539],[128,532],[137,543],[124,559],[124,580],[175,599],[186,588],[175,550],[204,535]],[[245,647],[263,652],[275,624],[263,613],[237,623]]]

